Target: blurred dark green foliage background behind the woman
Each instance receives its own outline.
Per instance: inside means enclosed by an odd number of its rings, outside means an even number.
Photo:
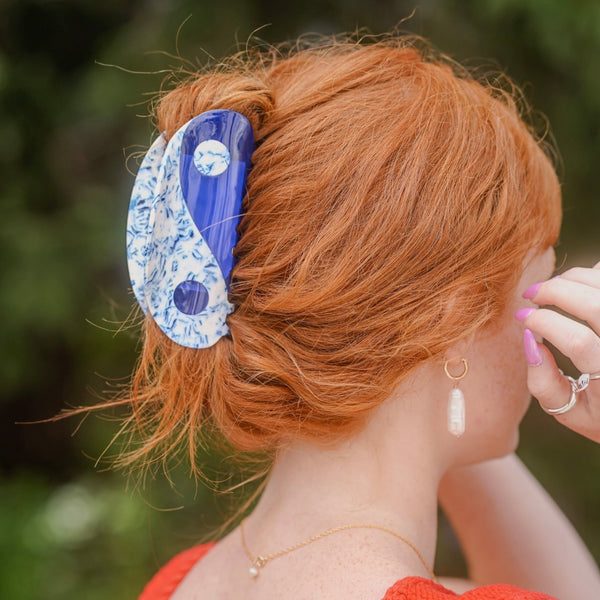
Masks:
[[[92,403],[131,370],[135,336],[115,334],[132,303],[124,229],[137,164],[127,157],[155,135],[147,102],[181,66],[175,55],[202,63],[258,28],[268,42],[379,33],[413,10],[403,28],[503,68],[548,116],[563,156],[559,262],[600,260],[596,0],[0,1],[0,598],[135,598],[230,504],[184,468],[175,490],[164,476],[127,489],[121,474],[95,470],[118,429],[110,419],[17,424]],[[600,559],[599,447],[537,407],[522,439]],[[458,573],[440,530],[440,570]]]

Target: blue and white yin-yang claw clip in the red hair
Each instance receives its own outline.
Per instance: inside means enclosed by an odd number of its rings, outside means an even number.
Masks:
[[[168,143],[161,135],[135,179],[127,219],[131,286],[144,313],[181,346],[208,348],[229,333],[232,251],[254,148],[246,117],[211,110]]]

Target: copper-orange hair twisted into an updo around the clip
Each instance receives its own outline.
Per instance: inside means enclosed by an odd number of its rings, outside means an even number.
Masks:
[[[195,350],[146,320],[129,458],[184,442],[195,467],[214,426],[241,451],[330,443],[412,369],[493,324],[561,220],[552,162],[511,89],[393,36],[237,56],[164,95],[167,137],[231,109],[257,150],[231,333]]]

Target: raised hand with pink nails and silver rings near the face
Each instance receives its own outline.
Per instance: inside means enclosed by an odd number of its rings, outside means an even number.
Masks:
[[[539,306],[555,306],[585,321],[579,323],[550,308],[521,309],[515,315],[527,327],[524,343],[530,365],[529,391],[542,408],[560,408],[571,398],[571,383],[531,331],[569,357],[581,373],[600,375],[600,263],[592,269],[570,269],[530,287],[523,296]],[[589,386],[577,394],[573,408],[555,417],[573,431],[600,443],[600,379],[590,380]]]

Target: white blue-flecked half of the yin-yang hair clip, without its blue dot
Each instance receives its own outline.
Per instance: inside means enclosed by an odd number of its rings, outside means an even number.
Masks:
[[[174,342],[208,348],[229,333],[225,319],[233,305],[217,260],[181,191],[179,157],[187,125],[166,148],[161,136],[142,163],[129,209],[127,256],[133,291],[144,312]],[[190,282],[208,294],[197,314],[186,314],[175,304],[176,290]]]

